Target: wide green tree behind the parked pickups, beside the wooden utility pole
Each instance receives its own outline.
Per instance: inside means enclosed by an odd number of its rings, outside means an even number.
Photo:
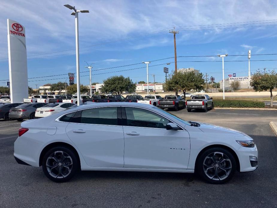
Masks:
[[[190,90],[203,90],[205,80],[202,73],[194,72],[182,72],[175,73],[172,71],[169,74],[167,81],[164,85],[166,91],[178,91],[182,90],[184,93],[184,99],[186,99],[186,91]]]

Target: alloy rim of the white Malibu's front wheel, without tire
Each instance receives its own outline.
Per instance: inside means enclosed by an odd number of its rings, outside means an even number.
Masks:
[[[232,163],[224,153],[213,152],[204,159],[203,170],[212,180],[224,180],[231,174]]]

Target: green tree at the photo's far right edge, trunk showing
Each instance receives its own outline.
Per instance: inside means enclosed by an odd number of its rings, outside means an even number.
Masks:
[[[277,73],[273,70],[269,73],[263,73],[257,71],[251,77],[250,86],[253,87],[255,91],[270,91],[270,106],[273,107],[273,99],[277,96],[272,94],[274,88],[277,88]]]

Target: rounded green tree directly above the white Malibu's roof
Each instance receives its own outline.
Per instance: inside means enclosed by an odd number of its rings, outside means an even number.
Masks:
[[[115,92],[117,95],[120,95],[123,91],[128,91],[129,93],[136,91],[136,84],[132,82],[130,77],[125,78],[122,75],[111,76],[104,80],[103,83],[101,91],[106,93]]]

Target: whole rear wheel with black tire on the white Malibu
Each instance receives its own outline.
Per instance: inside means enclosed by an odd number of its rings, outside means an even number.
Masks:
[[[64,158],[63,156],[67,158]],[[68,158],[68,156],[70,157],[70,159]],[[51,159],[53,157],[55,157],[56,160]],[[70,164],[72,163],[72,165],[69,165],[69,163]],[[56,167],[52,168],[52,171],[49,171],[50,166],[47,166],[47,165],[53,165]],[[65,168],[64,165],[67,166],[68,168]],[[43,160],[42,160],[42,168],[43,168],[44,174],[50,180],[58,183],[63,183],[70,180],[80,170],[80,162],[77,158],[77,155],[74,153],[72,149],[68,147],[62,147],[62,146],[53,147],[52,149],[48,150],[44,154]],[[59,170],[61,174],[59,174]]]

